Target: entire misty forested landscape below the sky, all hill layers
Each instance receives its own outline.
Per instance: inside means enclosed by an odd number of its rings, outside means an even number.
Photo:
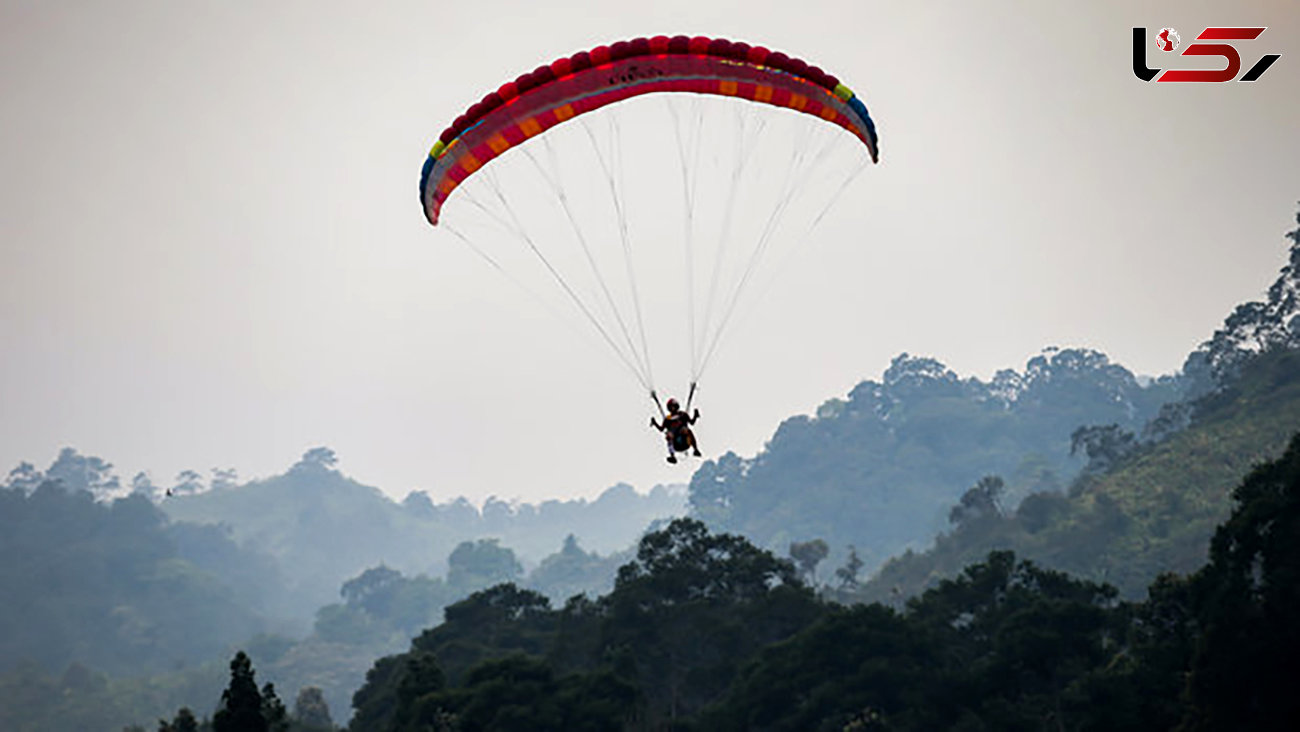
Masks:
[[[900,354],[647,491],[398,502],[328,446],[256,480],[23,462],[0,728],[1282,728],[1287,237],[1266,298],[1176,373],[1049,346],[983,381]]]

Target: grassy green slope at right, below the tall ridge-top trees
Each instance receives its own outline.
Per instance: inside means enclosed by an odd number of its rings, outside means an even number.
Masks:
[[[1069,494],[1031,494],[1009,515],[958,523],[930,550],[889,560],[855,597],[919,593],[994,549],[1109,581],[1131,598],[1161,572],[1195,571],[1232,488],[1280,454],[1300,424],[1300,352],[1260,355],[1236,374],[1192,404],[1183,430],[1106,458],[1108,471],[1084,475]]]

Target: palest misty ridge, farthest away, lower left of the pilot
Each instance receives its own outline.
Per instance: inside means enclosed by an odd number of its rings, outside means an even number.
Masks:
[[[533,567],[569,534],[607,554],[632,546],[651,521],[685,512],[682,490],[656,486],[642,495],[624,484],[595,501],[540,506],[489,499],[480,510],[464,498],[434,503],[425,493],[396,503],[333,464],[332,451],[315,449],[285,475],[173,495],[161,507],[173,520],[226,527],[242,546],[273,556],[285,590],[276,610],[299,619],[337,602],[343,581],[370,567],[441,576],[463,541],[499,538]]]

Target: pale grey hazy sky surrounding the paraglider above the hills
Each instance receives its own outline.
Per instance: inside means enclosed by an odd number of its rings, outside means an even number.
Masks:
[[[1244,64],[1282,59],[1254,83],[1134,77],[1131,27],[1209,25],[1269,26]],[[1045,346],[1170,373],[1284,263],[1294,1],[0,0],[0,469],[75,446],[125,480],[248,478],[326,445],[395,497],[688,480],[582,324],[416,196],[486,91],[679,33],[823,66],[881,137],[710,367],[710,454],[753,455],[902,351],[982,378]]]

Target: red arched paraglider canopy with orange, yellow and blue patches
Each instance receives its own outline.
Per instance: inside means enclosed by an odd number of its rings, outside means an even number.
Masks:
[[[760,46],[655,36],[599,46],[538,66],[469,107],[443,130],[420,176],[433,225],[443,202],[493,157],[607,104],[654,92],[734,96],[820,117],[878,159],[876,129],[849,87],[816,66]]]

